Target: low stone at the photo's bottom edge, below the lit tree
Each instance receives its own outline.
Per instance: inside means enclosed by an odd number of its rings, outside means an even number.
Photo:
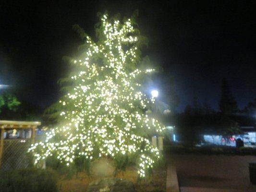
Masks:
[[[86,192],[135,192],[135,188],[128,180],[104,178],[91,182]]]

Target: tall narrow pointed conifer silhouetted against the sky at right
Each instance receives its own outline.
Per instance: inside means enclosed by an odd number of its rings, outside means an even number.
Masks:
[[[226,79],[222,80],[219,109],[225,115],[231,115],[238,110],[237,103]]]

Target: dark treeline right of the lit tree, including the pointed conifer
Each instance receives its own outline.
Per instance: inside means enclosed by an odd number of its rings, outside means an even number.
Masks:
[[[172,113],[167,121],[176,126],[179,140],[195,144],[203,141],[203,134],[218,134],[228,139],[243,133],[241,126],[255,125],[255,115],[256,99],[239,109],[228,82],[223,79],[218,111],[211,108],[207,100],[200,102],[194,97],[191,105],[187,105],[182,113]]]

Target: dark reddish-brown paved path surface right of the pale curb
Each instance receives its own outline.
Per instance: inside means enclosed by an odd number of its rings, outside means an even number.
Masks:
[[[170,155],[181,192],[256,192],[249,162],[256,156]]]

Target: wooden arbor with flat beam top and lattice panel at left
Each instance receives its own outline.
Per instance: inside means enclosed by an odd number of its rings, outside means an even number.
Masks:
[[[7,160],[10,159],[10,156],[15,155],[11,151],[13,152],[15,149],[18,151],[18,147],[26,141],[28,141],[27,144],[35,142],[38,125],[41,125],[41,122],[0,120],[0,168],[4,157]],[[11,136],[10,132],[12,132]],[[18,156],[16,158],[19,159]]]

